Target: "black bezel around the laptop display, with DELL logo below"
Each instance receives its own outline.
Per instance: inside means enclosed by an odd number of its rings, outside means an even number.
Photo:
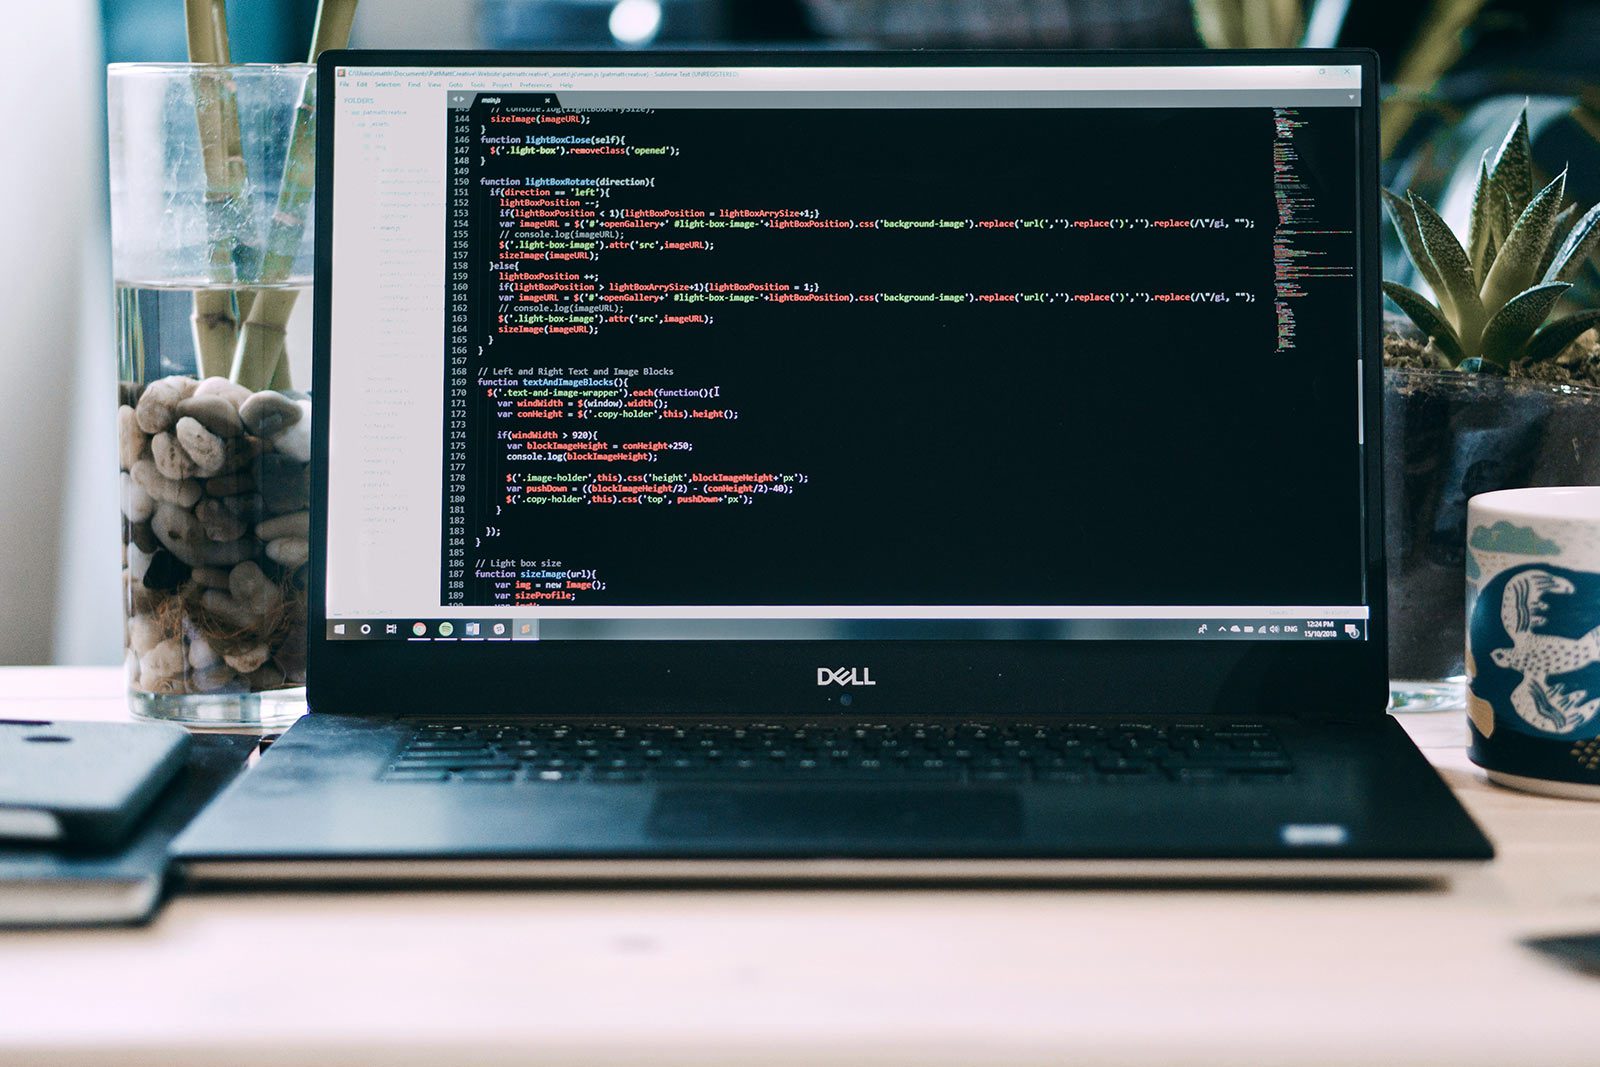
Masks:
[[[1365,641],[334,641],[326,637],[326,494],[334,123],[317,126],[309,686],[315,712],[549,715],[1301,715],[1387,704],[1382,537],[1378,58],[1365,50],[1171,51],[330,51],[334,67],[550,66],[1277,66],[1362,69],[1358,262],[1365,472]],[[875,685],[818,685],[867,667]]]

